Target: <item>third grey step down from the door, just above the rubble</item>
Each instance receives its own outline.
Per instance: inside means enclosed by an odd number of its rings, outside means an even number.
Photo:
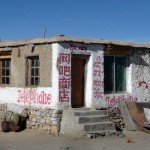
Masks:
[[[115,129],[115,124],[112,122],[87,123],[84,125],[84,131],[102,131]]]

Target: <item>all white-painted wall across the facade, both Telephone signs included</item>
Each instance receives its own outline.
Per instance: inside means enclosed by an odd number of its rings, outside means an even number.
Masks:
[[[38,88],[17,88],[0,87],[0,103],[16,103],[26,106],[41,108],[68,108],[71,107],[71,55],[88,55],[85,82],[85,106],[86,107],[114,107],[118,106],[119,101],[150,101],[150,52],[148,50],[135,51],[128,56],[127,67],[127,92],[122,94],[104,95],[104,87],[96,87],[95,80],[104,81],[104,75],[94,75],[95,66],[98,58],[100,63],[104,63],[102,45],[86,45],[73,43],[54,43],[52,44],[52,87]],[[70,63],[60,62],[60,55],[67,54]],[[68,57],[68,58],[69,58]],[[67,101],[60,101],[60,75],[59,67],[70,67],[68,76],[70,77],[69,88],[67,90]],[[101,65],[101,72],[104,66]],[[102,83],[101,82],[101,83]],[[98,89],[99,88],[99,89]],[[100,92],[100,97],[95,96],[95,92]]]

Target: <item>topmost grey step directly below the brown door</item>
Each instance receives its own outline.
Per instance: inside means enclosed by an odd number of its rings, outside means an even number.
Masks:
[[[74,111],[74,116],[93,116],[93,115],[104,115],[103,110],[79,110]]]

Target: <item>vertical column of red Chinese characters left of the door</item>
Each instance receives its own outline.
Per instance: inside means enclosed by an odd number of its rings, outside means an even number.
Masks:
[[[59,101],[69,102],[70,100],[70,54],[60,54],[59,56]]]

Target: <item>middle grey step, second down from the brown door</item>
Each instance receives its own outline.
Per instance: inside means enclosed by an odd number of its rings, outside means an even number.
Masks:
[[[109,122],[109,117],[107,115],[94,115],[94,116],[79,116],[78,123],[96,123],[96,122]]]

